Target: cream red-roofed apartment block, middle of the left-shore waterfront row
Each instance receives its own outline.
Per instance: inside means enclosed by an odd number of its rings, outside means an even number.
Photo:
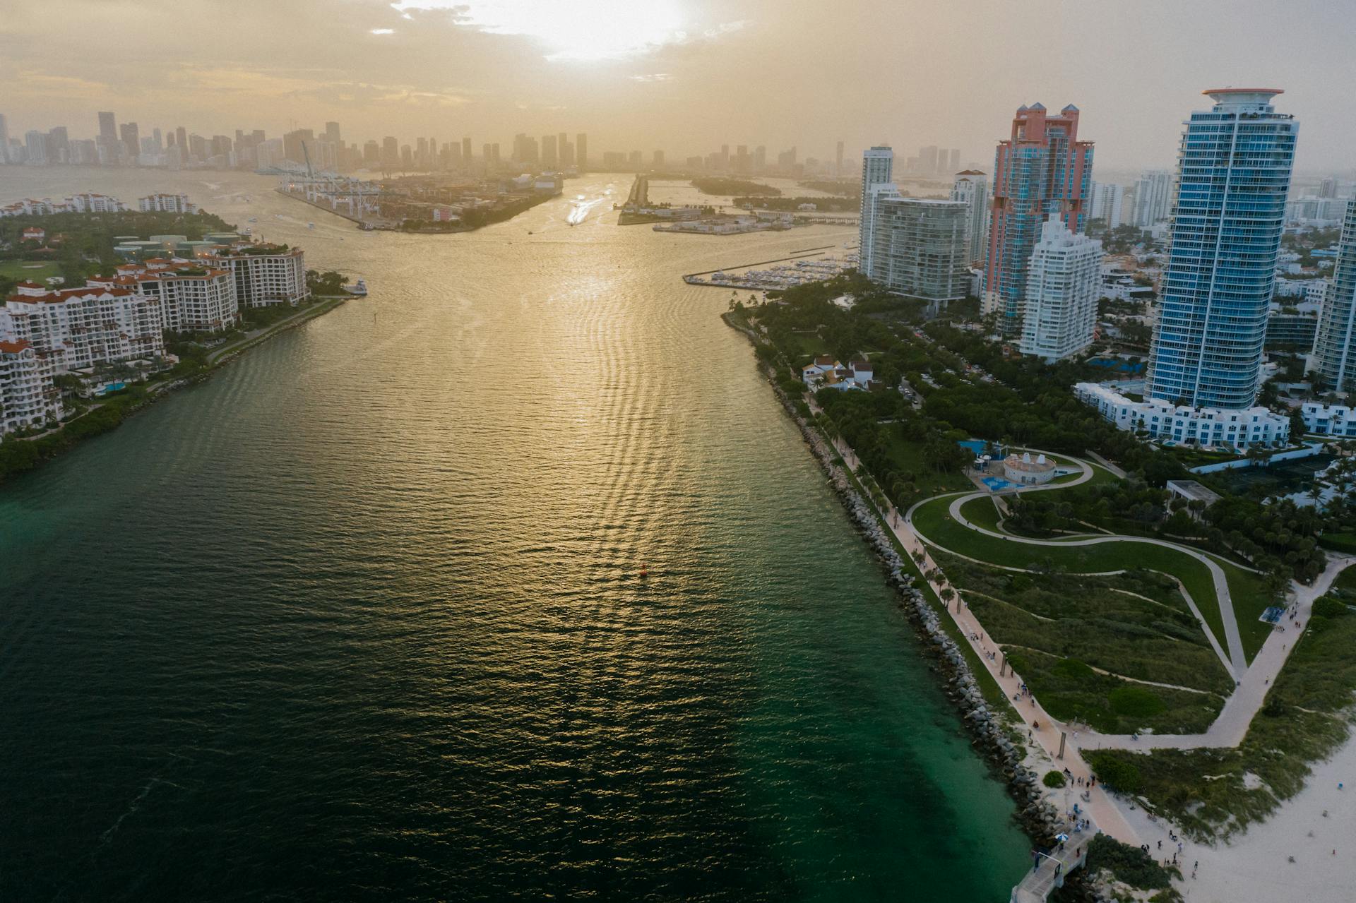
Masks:
[[[235,274],[190,260],[151,259],[118,267],[110,279],[91,285],[122,287],[153,298],[167,332],[221,332],[240,320]]]

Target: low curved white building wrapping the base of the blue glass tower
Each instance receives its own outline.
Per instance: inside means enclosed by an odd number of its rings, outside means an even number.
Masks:
[[[1159,399],[1132,401],[1098,382],[1079,382],[1074,395],[1097,408],[1117,428],[1142,431],[1161,442],[1245,449],[1284,445],[1290,439],[1290,418],[1264,407],[1193,408]]]

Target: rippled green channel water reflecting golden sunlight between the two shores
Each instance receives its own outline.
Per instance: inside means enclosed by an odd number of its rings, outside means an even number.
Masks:
[[[1006,899],[1012,803],[677,278],[850,230],[617,228],[595,176],[361,233],[268,187],[0,167],[372,289],[0,487],[0,898]]]

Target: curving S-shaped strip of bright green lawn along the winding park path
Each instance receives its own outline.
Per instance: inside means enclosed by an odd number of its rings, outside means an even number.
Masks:
[[[1224,624],[1219,614],[1215,583],[1210,576],[1210,569],[1189,555],[1147,542],[1101,542],[1064,549],[1058,545],[1033,546],[1025,542],[999,540],[968,530],[952,521],[948,508],[953,498],[932,499],[914,513],[914,526],[918,527],[919,533],[942,548],[990,564],[1014,568],[1058,567],[1071,574],[1097,574],[1139,567],[1172,574],[1185,584],[1215,639],[1219,640],[1220,645],[1224,644]],[[1231,593],[1237,586],[1248,603],[1252,603],[1256,595],[1261,594],[1253,575],[1231,565],[1220,567],[1229,576]],[[1254,590],[1254,587],[1257,588]],[[1242,633],[1242,628],[1239,632]],[[1253,651],[1256,652],[1256,648]]]

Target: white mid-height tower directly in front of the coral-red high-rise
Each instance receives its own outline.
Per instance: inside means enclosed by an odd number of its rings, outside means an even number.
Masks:
[[[1077,235],[1051,216],[1026,268],[1021,353],[1045,361],[1078,354],[1093,342],[1101,296],[1101,241]]]

